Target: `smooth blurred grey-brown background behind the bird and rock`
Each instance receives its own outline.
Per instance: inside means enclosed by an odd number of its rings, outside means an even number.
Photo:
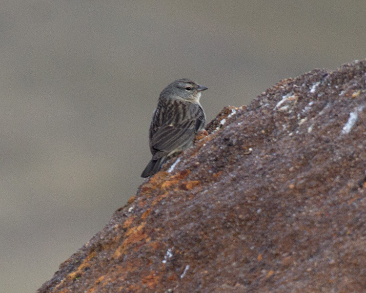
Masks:
[[[366,58],[366,1],[0,1],[0,291],[34,292],[122,207],[161,90],[207,120]]]

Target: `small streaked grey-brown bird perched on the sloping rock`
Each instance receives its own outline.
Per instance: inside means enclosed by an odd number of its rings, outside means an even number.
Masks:
[[[160,93],[149,131],[153,157],[141,177],[154,175],[167,158],[192,145],[195,134],[206,122],[200,104],[201,92],[205,89],[207,87],[189,79],[180,79]]]

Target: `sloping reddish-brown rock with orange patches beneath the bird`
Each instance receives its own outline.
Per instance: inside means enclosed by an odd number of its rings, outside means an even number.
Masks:
[[[366,61],[206,129],[38,292],[364,292]]]

